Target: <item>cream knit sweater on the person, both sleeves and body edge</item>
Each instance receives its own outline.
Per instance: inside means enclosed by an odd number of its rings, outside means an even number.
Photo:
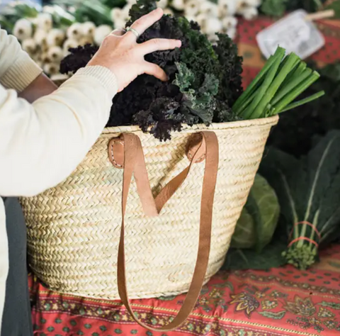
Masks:
[[[0,196],[31,196],[74,170],[106,125],[117,92],[106,67],[85,67],[32,105],[19,99],[41,73],[16,40],[0,30]],[[9,89],[11,88],[11,89]],[[0,198],[0,324],[8,272]]]

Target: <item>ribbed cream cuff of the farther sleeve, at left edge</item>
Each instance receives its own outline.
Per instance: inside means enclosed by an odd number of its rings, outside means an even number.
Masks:
[[[15,89],[17,92],[21,92],[41,73],[42,69],[28,56],[27,52],[23,51],[1,77],[0,83],[6,89]]]

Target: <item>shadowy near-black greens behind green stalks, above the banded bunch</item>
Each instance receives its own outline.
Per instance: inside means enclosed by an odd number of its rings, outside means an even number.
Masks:
[[[316,68],[315,65],[311,67]],[[340,129],[340,63],[318,69],[321,77],[312,84],[302,98],[327,92],[312,104],[295,108],[290,113],[282,113],[280,123],[273,128],[268,145],[288,154],[301,157],[311,150],[315,135],[325,135],[329,130]]]

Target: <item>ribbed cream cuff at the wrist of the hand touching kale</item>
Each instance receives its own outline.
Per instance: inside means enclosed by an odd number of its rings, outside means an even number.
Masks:
[[[100,65],[89,65],[83,67],[77,71],[74,76],[89,76],[98,79],[103,87],[108,91],[110,98],[115,96],[118,91],[118,84],[115,74],[107,67],[101,67]]]

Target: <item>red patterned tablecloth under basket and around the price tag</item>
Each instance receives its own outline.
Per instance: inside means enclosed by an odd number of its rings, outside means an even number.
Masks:
[[[256,33],[268,18],[239,23],[239,51],[244,55],[244,85],[264,60]],[[313,55],[319,65],[340,55],[340,23],[317,23],[326,46]],[[136,325],[118,301],[55,293],[29,276],[35,336],[340,336],[340,246],[323,252],[313,269],[220,272],[207,286],[188,321],[174,332],[149,332]],[[161,326],[181,308],[185,296],[135,300],[132,306],[149,325]]]

